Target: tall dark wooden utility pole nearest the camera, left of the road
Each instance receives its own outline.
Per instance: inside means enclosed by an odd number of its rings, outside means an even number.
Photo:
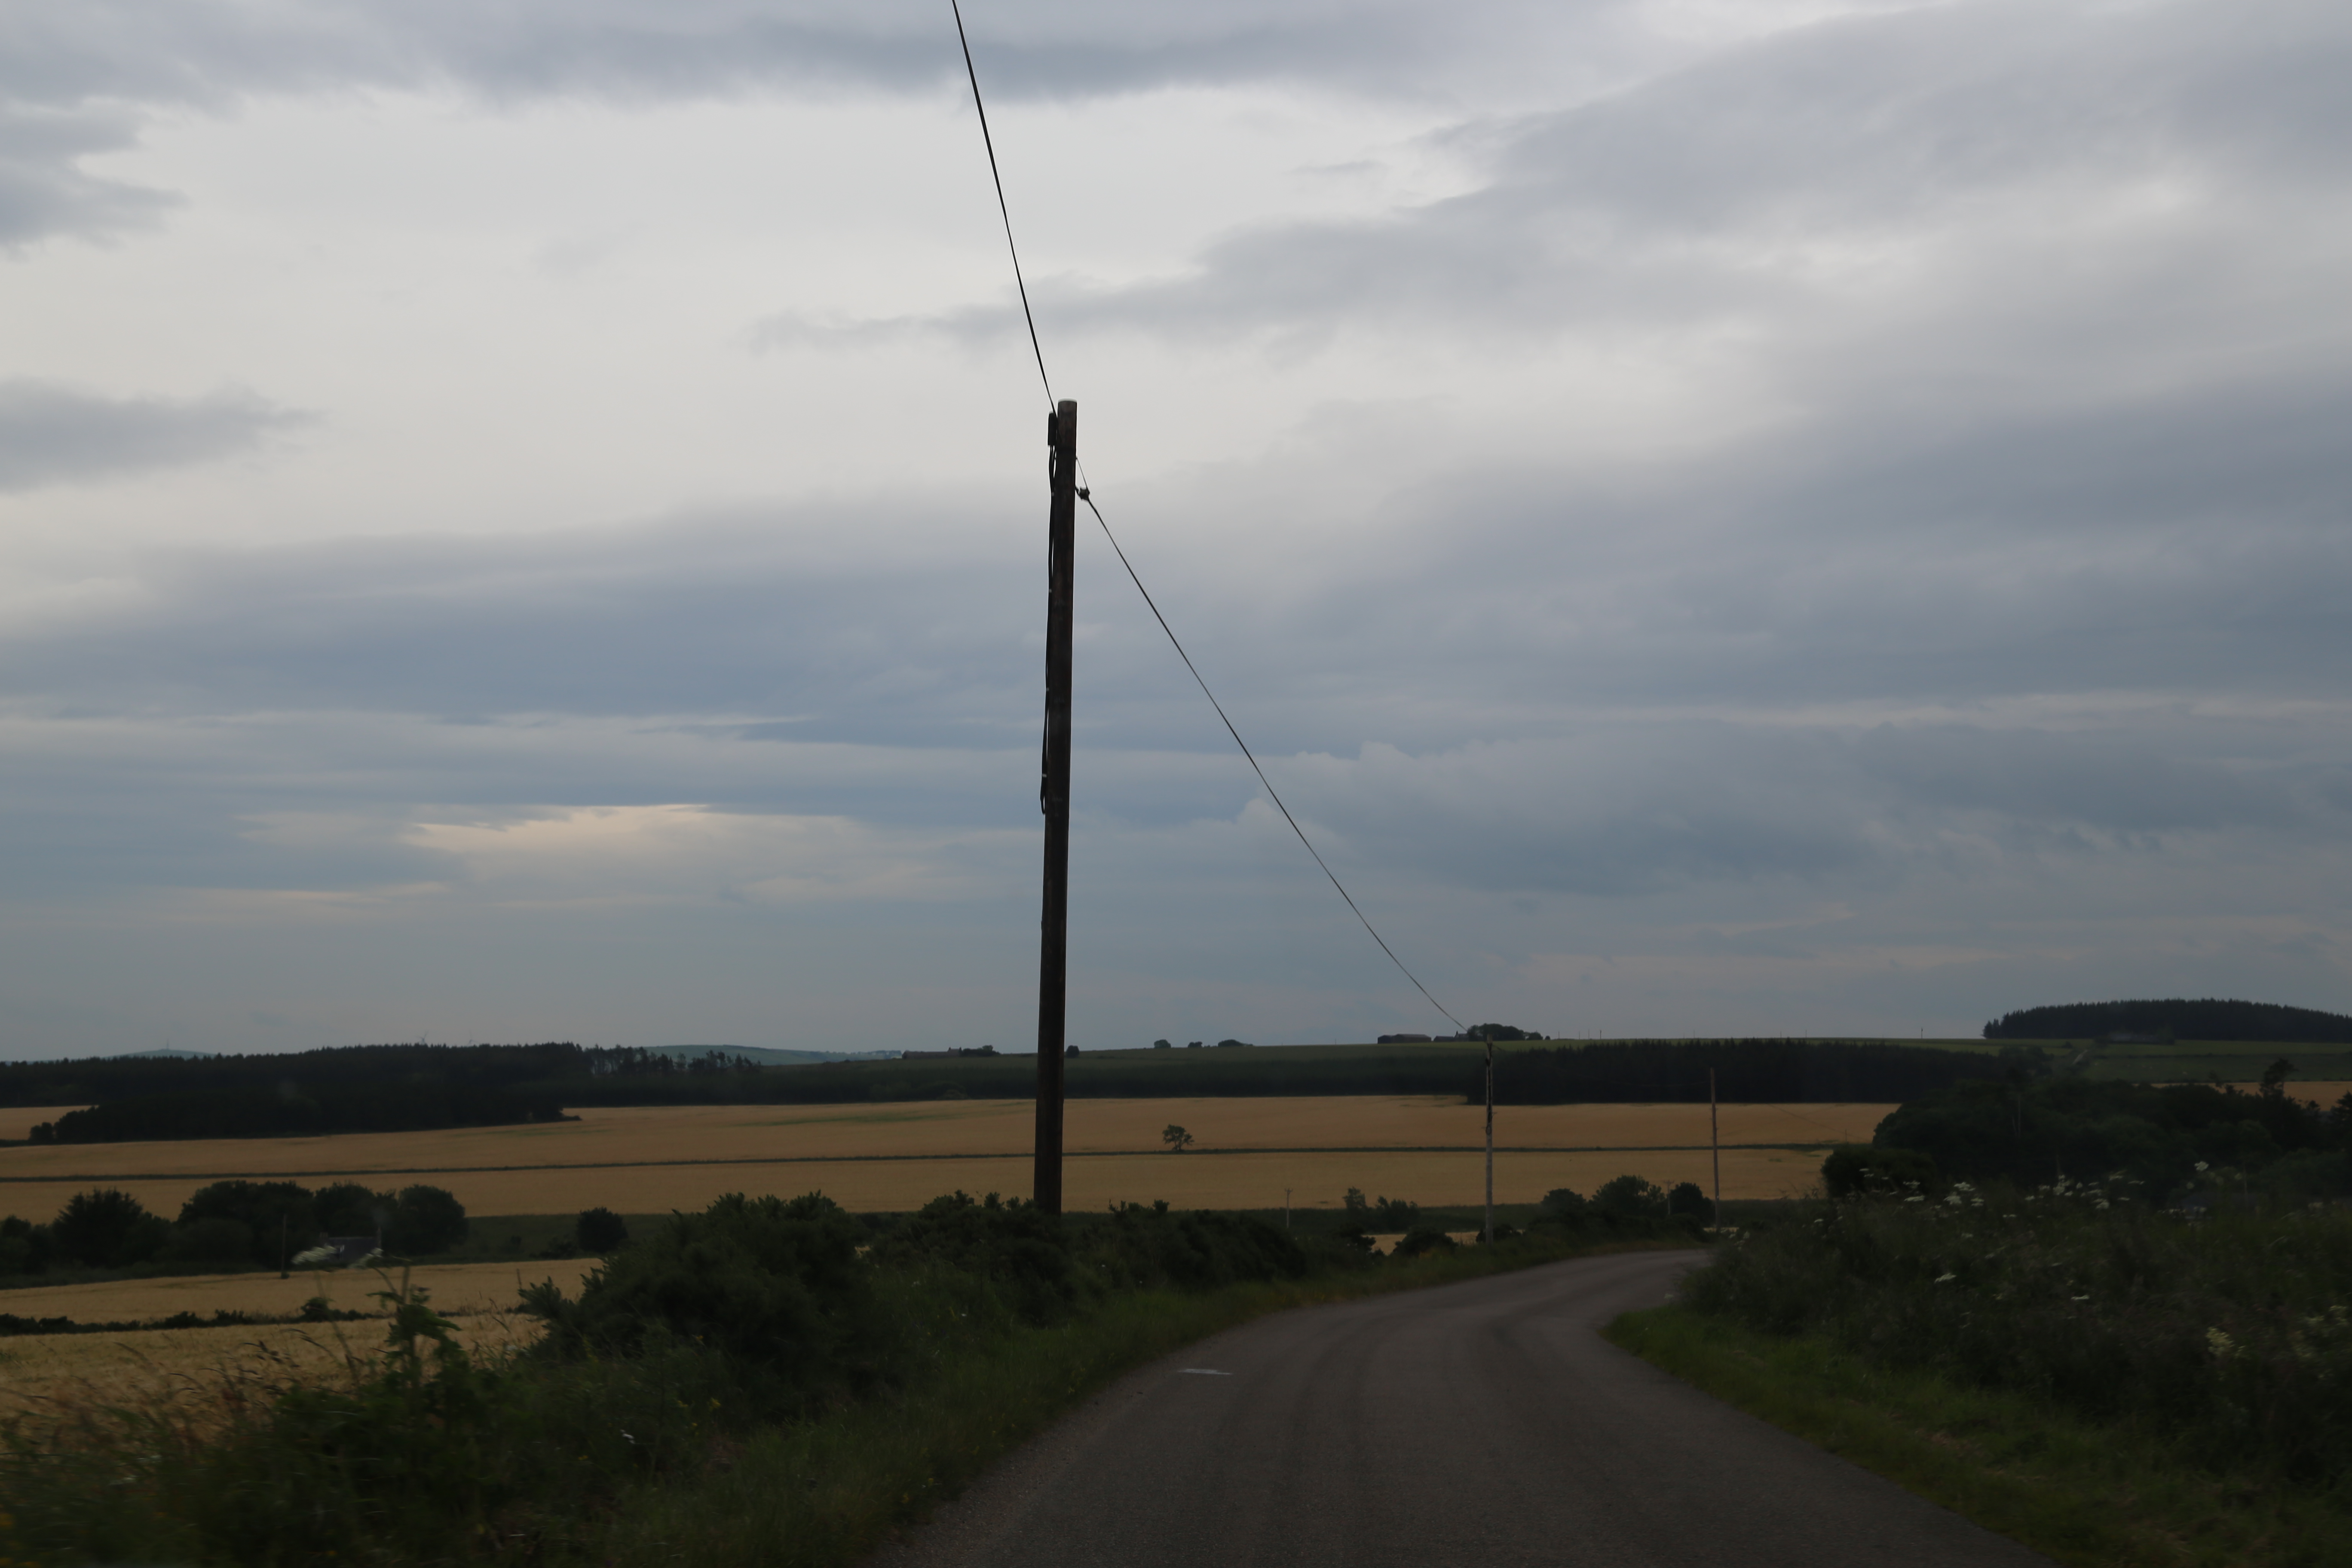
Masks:
[[[1037,1171],[1030,1201],[1061,1213],[1061,1063],[1070,994],[1070,614],[1077,555],[1077,404],[1063,400],[1044,421],[1047,510],[1044,597],[1044,919],[1037,957]]]

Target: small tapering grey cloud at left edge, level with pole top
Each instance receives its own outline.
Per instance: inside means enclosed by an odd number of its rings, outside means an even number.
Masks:
[[[52,381],[0,381],[0,491],[205,463],[301,423],[249,393],[99,397]]]

